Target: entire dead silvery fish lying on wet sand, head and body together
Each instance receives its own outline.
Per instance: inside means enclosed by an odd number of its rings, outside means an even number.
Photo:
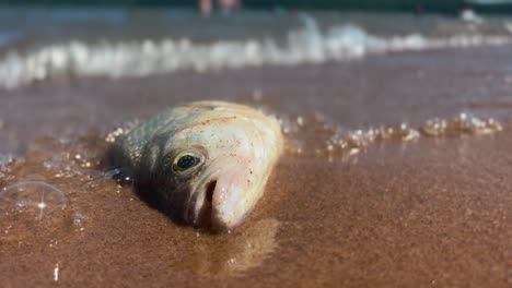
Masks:
[[[117,164],[158,193],[171,215],[231,230],[261,197],[283,136],[276,118],[248,106],[195,101],[135,127],[116,151]]]

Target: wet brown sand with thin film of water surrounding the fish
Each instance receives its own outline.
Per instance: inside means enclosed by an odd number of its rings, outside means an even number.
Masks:
[[[511,48],[2,92],[0,153],[16,159],[0,168],[0,185],[44,181],[67,200],[38,220],[0,218],[1,286],[510,287]],[[284,155],[248,220],[210,235],[177,226],[98,171],[113,128],[209,98],[290,119],[319,113],[342,130],[420,127],[462,111],[503,130],[391,139],[348,157]],[[315,125],[293,135],[306,149],[325,145]]]

